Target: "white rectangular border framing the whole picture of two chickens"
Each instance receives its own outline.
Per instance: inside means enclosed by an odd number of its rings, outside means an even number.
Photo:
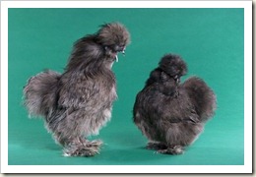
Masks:
[[[244,8],[244,165],[8,165],[8,8]],[[245,32],[246,31],[246,32]],[[1,173],[252,173],[251,1],[2,1]],[[100,170],[98,170],[100,169]],[[184,170],[185,169],[185,170]],[[202,171],[203,170],[203,171]]]

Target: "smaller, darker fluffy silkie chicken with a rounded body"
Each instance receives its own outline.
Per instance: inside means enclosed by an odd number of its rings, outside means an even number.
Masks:
[[[214,91],[197,77],[180,84],[180,77],[186,72],[187,66],[178,55],[167,54],[137,94],[133,120],[149,139],[147,148],[160,153],[183,153],[214,115]]]

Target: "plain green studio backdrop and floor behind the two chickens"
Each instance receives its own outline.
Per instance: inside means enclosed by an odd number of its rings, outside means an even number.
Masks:
[[[9,9],[9,165],[242,165],[244,164],[243,9]],[[43,69],[62,72],[73,43],[99,25],[121,22],[131,32],[126,56],[113,66],[118,100],[112,119],[93,139],[105,145],[95,157],[64,157],[22,105],[27,80]],[[204,133],[183,155],[145,148],[132,122],[137,92],[160,57],[179,54],[188,74],[204,79],[218,96],[218,109]]]

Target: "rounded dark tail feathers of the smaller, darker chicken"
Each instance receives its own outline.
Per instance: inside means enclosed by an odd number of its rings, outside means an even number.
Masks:
[[[197,77],[192,77],[185,81],[183,88],[188,92],[199,115],[199,120],[202,122],[209,120],[214,115],[217,107],[217,98],[214,91]]]

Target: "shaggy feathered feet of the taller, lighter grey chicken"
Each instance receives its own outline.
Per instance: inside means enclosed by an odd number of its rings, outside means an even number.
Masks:
[[[71,143],[63,150],[64,156],[95,156],[99,153],[102,142],[95,140],[89,142],[87,140],[80,139],[79,143]]]

